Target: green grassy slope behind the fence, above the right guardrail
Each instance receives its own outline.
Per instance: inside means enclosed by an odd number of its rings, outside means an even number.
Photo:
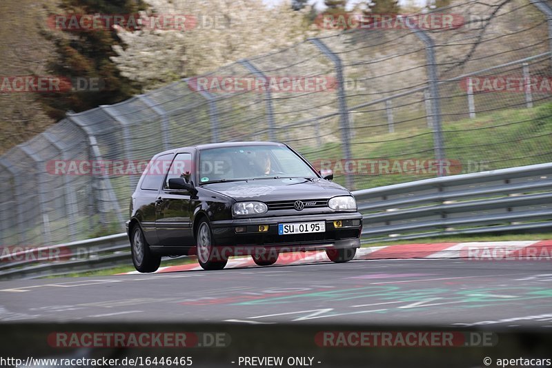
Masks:
[[[403,116],[407,121],[408,117]],[[373,121],[377,125],[377,121]],[[497,170],[505,167],[533,165],[552,161],[552,103],[535,108],[500,110],[477,114],[475,119],[443,124],[446,159],[460,163],[450,174]],[[359,131],[359,132],[362,132]],[[357,134],[351,142],[353,159],[401,160],[432,159],[433,134],[420,126],[395,127],[394,133]],[[423,152],[412,154],[410,152]],[[304,147],[300,150],[310,161],[342,159],[339,143],[322,147]],[[359,174],[355,176],[355,190],[380,187],[433,178],[431,172],[395,172],[390,174]],[[335,173],[334,181],[346,185],[342,172]]]

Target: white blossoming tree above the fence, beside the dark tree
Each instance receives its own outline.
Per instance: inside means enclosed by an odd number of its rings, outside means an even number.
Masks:
[[[268,8],[262,0],[146,0],[144,19],[157,14],[193,16],[191,29],[144,27],[117,33],[126,47],[116,46],[121,74],[157,88],[185,76],[204,74],[239,59],[253,57],[292,45],[311,32],[304,11],[290,3]],[[188,17],[190,19],[190,17]],[[190,28],[188,21],[185,28]],[[157,29],[154,29],[157,28]],[[312,31],[314,32],[314,31]]]

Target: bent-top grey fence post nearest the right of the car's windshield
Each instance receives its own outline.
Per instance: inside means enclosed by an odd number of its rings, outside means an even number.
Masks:
[[[311,41],[322,54],[324,54],[328,59],[330,59],[333,62],[333,65],[335,67],[335,77],[337,79],[337,103],[339,104],[339,120],[341,123],[341,130],[342,130],[342,141],[343,141],[343,156],[345,157],[346,161],[351,160],[351,127],[349,125],[349,114],[347,110],[347,102],[345,100],[346,94],[345,94],[345,85],[344,85],[344,78],[343,78],[343,65],[341,63],[341,59],[335,54],[335,52],[332,52],[328,46],[322,42],[320,39],[308,39],[308,41]],[[355,189],[355,181],[354,176],[346,174],[345,175],[345,181],[348,189],[354,190]]]

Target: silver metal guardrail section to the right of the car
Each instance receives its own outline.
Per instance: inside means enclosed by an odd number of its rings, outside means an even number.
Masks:
[[[552,228],[552,163],[354,192],[363,243]]]

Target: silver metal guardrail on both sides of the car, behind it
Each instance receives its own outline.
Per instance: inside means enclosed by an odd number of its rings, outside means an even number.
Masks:
[[[431,178],[353,192],[363,243],[430,236],[552,229],[552,163]],[[39,249],[72,258],[5,263],[0,278],[38,278],[131,265],[125,233]],[[22,258],[36,249],[21,252]],[[79,254],[84,257],[79,257]]]

